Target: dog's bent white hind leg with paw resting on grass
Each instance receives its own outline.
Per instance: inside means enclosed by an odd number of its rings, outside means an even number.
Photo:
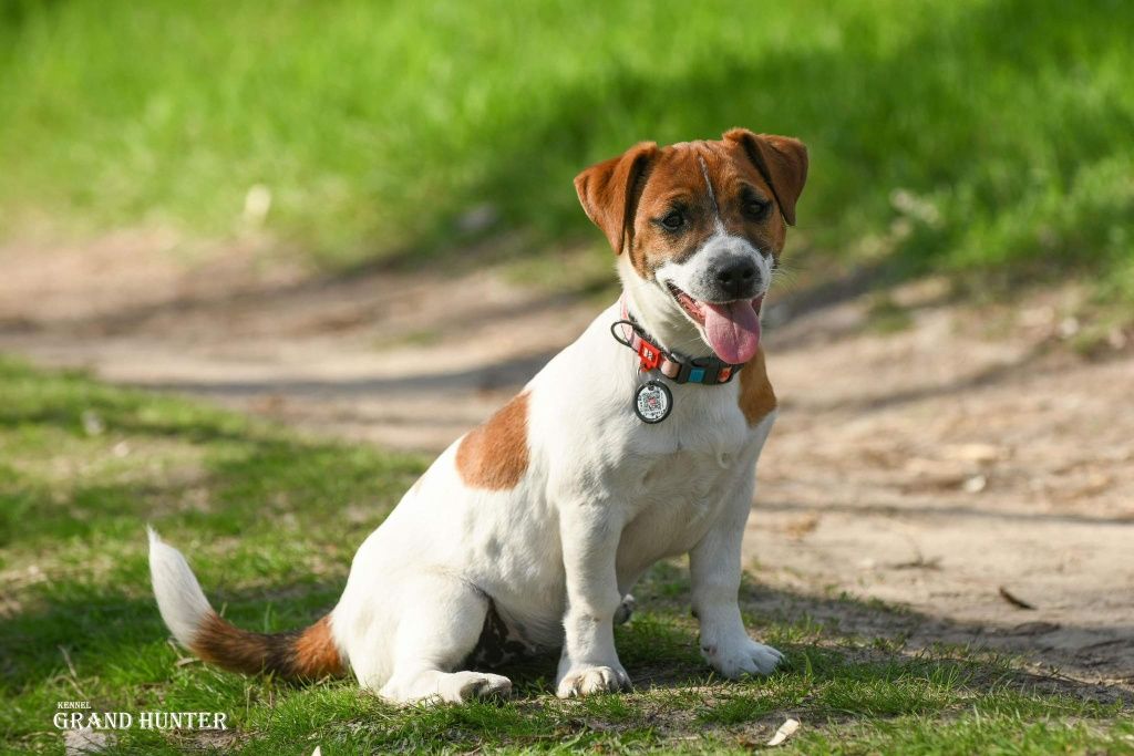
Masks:
[[[395,703],[459,704],[511,694],[506,677],[458,670],[481,637],[488,596],[458,578],[439,575],[418,577],[399,594],[404,601],[391,645],[393,669],[379,695]]]

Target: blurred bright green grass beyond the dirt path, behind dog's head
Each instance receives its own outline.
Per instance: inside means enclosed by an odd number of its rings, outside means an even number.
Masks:
[[[1085,271],[1134,297],[1124,0],[0,9],[0,228],[240,237],[263,185],[271,237],[332,264],[485,235],[518,257],[549,239],[606,254],[576,171],[743,125],[811,145],[797,249]],[[460,231],[484,205],[496,222]]]

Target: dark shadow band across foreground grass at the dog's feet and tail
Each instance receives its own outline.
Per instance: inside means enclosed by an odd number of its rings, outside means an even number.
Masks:
[[[640,585],[635,617],[616,631],[620,659],[638,690],[702,688],[713,681],[709,668],[699,659],[696,625],[688,617],[685,601],[687,592],[675,587],[675,577],[682,572],[672,563],[654,568]],[[139,583],[144,580],[138,577]],[[666,595],[650,595],[655,589]],[[340,591],[337,583],[306,581],[282,595],[260,589],[208,593],[214,605],[227,608],[227,618],[239,627],[284,631],[305,627],[322,617],[333,606]],[[3,687],[10,694],[19,695],[52,680],[69,681],[68,685],[82,690],[84,681],[100,677],[117,676],[124,683],[138,685],[168,681],[175,672],[181,673],[178,670],[184,664],[178,663],[179,655],[171,647],[161,651],[169,635],[156,605],[147,596],[138,597],[134,588],[100,588],[68,597],[52,596],[49,592],[32,605],[0,620],[0,646],[19,649],[18,654],[6,655],[0,666]],[[871,670],[885,670],[891,678],[925,680],[955,679],[959,673],[964,686],[976,693],[993,689],[1053,693],[1134,706],[1134,695],[1124,687],[1076,681],[1053,669],[1046,674],[1022,671],[1010,666],[1006,657],[976,646],[907,646],[906,639],[919,627],[940,622],[916,612],[847,598],[801,596],[759,584],[748,584],[743,589],[742,611],[753,635],[787,654],[789,663],[778,674],[806,676],[811,683],[837,680],[840,674],[861,677]],[[270,618],[268,626],[265,618]],[[154,653],[155,659],[139,662]],[[510,677],[523,697],[545,695],[553,693],[557,661],[553,654],[541,655],[494,671]],[[144,706],[145,698],[134,703]],[[115,706],[122,702],[102,703]],[[864,707],[857,713],[912,712]]]

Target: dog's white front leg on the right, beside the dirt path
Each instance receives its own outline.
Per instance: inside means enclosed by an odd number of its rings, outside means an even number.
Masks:
[[[770,674],[784,655],[748,637],[737,603],[741,542],[752,507],[754,476],[742,483],[704,538],[689,552],[693,613],[701,623],[701,655],[727,678]]]

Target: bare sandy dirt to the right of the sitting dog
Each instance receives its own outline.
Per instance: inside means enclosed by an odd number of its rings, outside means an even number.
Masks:
[[[778,329],[747,553],[779,588],[909,608],[914,645],[1134,689],[1134,359],[1052,349],[1057,308],[1029,307],[999,338],[953,306],[871,335],[857,301]]]

